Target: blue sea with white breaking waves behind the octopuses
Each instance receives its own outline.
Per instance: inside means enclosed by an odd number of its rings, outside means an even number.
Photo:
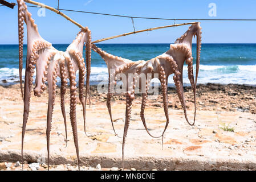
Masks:
[[[69,44],[52,44],[66,51]],[[149,60],[168,51],[169,43],[96,44],[104,51],[133,61]],[[23,47],[23,78],[25,77],[26,44]],[[18,44],[0,44],[0,85],[15,84],[19,80]],[[196,44],[192,44],[193,68],[196,69]],[[85,50],[83,52],[85,54]],[[204,43],[201,48],[198,84],[256,85],[256,43]],[[35,74],[34,74],[35,75]],[[190,85],[187,65],[184,64],[184,86]],[[78,76],[77,76],[78,79]],[[107,82],[108,69],[104,60],[92,51],[91,85]],[[58,80],[59,81],[59,80]],[[158,81],[153,79],[153,81]],[[168,78],[173,86],[173,75]]]

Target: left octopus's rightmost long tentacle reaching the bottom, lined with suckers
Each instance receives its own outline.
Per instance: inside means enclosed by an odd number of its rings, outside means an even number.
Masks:
[[[78,129],[76,123],[76,82],[75,82],[75,72],[72,65],[71,59],[67,58],[68,75],[70,76],[70,121],[73,131],[74,143],[76,148],[76,155],[78,158],[78,169],[80,170],[80,160],[79,160],[79,146],[78,146]]]

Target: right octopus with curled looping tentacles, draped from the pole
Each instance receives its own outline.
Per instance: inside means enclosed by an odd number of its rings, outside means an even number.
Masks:
[[[193,36],[197,36],[197,61],[196,61],[196,81],[194,81],[194,73],[193,73],[193,57],[192,57],[192,39]],[[92,49],[99,53],[99,55],[104,59],[105,63],[108,67],[109,79],[108,79],[108,94],[107,94],[107,107],[109,111],[109,116],[111,118],[111,123],[113,127],[112,114],[111,114],[111,96],[115,91],[113,90],[113,86],[116,84],[117,74],[123,73],[129,85],[126,86],[126,109],[125,109],[125,124],[124,124],[124,134],[123,134],[123,146],[122,146],[122,159],[123,159],[123,168],[124,168],[124,145],[125,138],[127,137],[127,131],[129,127],[129,121],[131,118],[131,109],[132,109],[132,101],[135,99],[135,87],[139,81],[139,88],[142,92],[142,102],[141,102],[141,112],[140,117],[141,121],[147,133],[151,135],[151,137],[164,138],[164,133],[169,123],[169,114],[168,114],[168,96],[167,96],[167,86],[168,86],[168,76],[174,73],[173,80],[176,85],[178,98],[181,102],[182,109],[184,110],[184,115],[186,121],[189,125],[194,125],[196,121],[196,84],[197,77],[199,71],[200,64],[200,51],[201,51],[201,27],[200,23],[194,23],[189,27],[188,31],[185,32],[180,38],[176,40],[174,44],[170,44],[170,49],[163,53],[160,56],[157,56],[151,60],[144,61],[131,61],[128,59],[124,59],[122,57],[113,56],[105,51],[102,51],[100,48],[92,45]],[[183,81],[182,81],[182,71],[183,65],[186,61],[188,64],[188,78],[190,84],[193,89],[194,94],[194,121],[190,123],[186,114],[186,103],[184,98],[184,90],[183,90]],[[132,78],[131,75],[132,74]],[[144,117],[144,109],[147,102],[148,97],[148,88],[149,83],[155,75],[159,75],[159,80],[161,83],[162,90],[162,102],[164,105],[164,113],[166,117],[166,125],[164,131],[159,137],[153,136],[149,133],[145,117]],[[140,75],[145,76],[145,81],[143,82]],[[138,79],[139,78],[139,79]],[[125,85],[125,84],[124,84]],[[143,91],[144,90],[144,91]],[[115,129],[113,127],[115,132]],[[115,133],[116,134],[116,133]]]

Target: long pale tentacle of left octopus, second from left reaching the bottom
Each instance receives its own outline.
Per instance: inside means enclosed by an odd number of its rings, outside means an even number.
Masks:
[[[50,160],[50,133],[51,133],[51,121],[52,121],[52,113],[54,109],[55,103],[55,95],[56,95],[56,71],[57,71],[57,63],[52,61],[50,63],[50,67],[48,69],[48,110],[47,110],[47,128],[46,128],[46,140],[47,140],[47,161],[48,161],[48,170],[49,170],[49,160]]]

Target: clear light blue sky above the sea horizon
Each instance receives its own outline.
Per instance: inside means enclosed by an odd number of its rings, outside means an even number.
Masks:
[[[9,2],[15,2],[14,0]],[[57,7],[57,0],[38,0],[46,5]],[[59,0],[60,9],[93,11],[128,16],[149,16],[158,18],[190,19],[255,19],[256,1],[231,0]],[[216,3],[217,16],[210,17],[209,3]],[[38,25],[40,35],[51,43],[71,43],[79,28],[62,16],[46,10],[45,17],[37,15],[37,8],[29,7],[32,18]],[[72,13],[63,11],[76,22],[88,26],[92,31],[92,40],[133,31],[129,18],[103,16],[95,14]],[[18,44],[17,6],[14,9],[0,7],[0,44]],[[134,19],[136,30],[173,24],[172,20]],[[188,21],[176,21],[183,23]],[[256,43],[256,22],[206,22],[201,21],[202,43]],[[103,43],[173,43],[188,26],[165,28],[112,39]],[[26,37],[25,37],[26,40]],[[26,41],[25,41],[26,43]]]

